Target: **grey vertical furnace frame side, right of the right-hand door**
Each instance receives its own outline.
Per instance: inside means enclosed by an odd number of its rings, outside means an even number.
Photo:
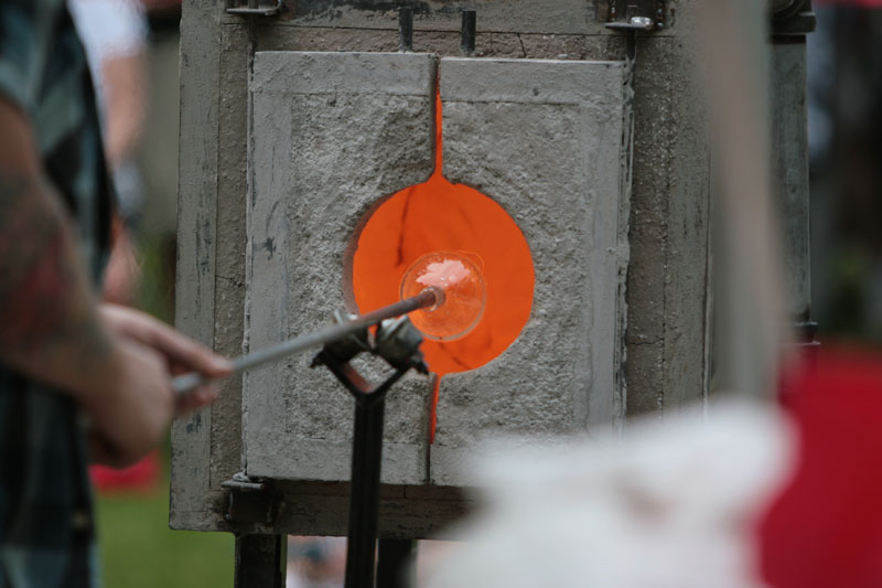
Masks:
[[[627,415],[706,397],[710,362],[710,153],[695,84],[696,2],[674,31],[637,40],[634,72]],[[673,34],[671,34],[673,33]]]

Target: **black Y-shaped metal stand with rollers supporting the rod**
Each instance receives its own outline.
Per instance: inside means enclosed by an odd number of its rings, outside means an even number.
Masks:
[[[337,317],[337,320],[345,318]],[[346,588],[373,588],[375,585],[386,393],[411,367],[429,373],[419,351],[421,343],[422,335],[407,317],[400,317],[383,321],[373,340],[365,328],[344,340],[327,343],[312,362],[313,367],[325,365],[331,370],[355,398]],[[348,363],[362,352],[383,357],[395,373],[381,384],[372,385]]]

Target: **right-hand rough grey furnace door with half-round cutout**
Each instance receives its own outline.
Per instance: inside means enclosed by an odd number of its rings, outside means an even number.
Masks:
[[[513,216],[536,274],[520,336],[491,363],[441,379],[431,480],[462,487],[476,481],[463,466],[481,441],[583,434],[622,417],[626,67],[443,58],[439,81],[444,175]]]

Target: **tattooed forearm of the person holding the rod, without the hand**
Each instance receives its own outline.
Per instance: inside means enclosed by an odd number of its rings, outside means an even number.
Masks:
[[[26,119],[3,100],[0,128],[0,359],[86,394],[115,359],[112,340]]]

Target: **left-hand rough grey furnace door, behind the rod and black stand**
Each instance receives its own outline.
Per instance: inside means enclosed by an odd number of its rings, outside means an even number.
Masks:
[[[431,174],[434,78],[428,54],[255,55],[250,349],[313,331],[344,306],[345,268],[366,214]],[[249,475],[348,479],[354,400],[310,359],[244,378]],[[373,368],[375,381],[381,375]],[[429,378],[408,375],[388,395],[384,482],[426,481],[430,394]]]

